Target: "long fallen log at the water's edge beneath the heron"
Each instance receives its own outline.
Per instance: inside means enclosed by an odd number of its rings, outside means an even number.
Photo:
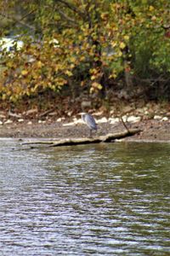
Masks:
[[[72,146],[72,145],[81,145],[81,144],[90,144],[90,143],[111,143],[116,139],[121,139],[124,137],[130,137],[134,134],[139,133],[141,130],[139,129],[132,129],[126,131],[120,131],[115,133],[108,133],[105,136],[98,136],[98,137],[80,137],[80,138],[65,138],[60,139],[58,141],[34,141],[28,143],[22,143],[22,145],[33,145],[33,144],[44,144],[48,147],[60,147],[60,146]],[[35,147],[31,147],[35,148]]]

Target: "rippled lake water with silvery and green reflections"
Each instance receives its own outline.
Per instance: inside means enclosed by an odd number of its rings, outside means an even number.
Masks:
[[[170,144],[0,148],[2,255],[169,255]]]

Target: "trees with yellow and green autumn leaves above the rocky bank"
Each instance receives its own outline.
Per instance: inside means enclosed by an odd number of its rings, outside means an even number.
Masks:
[[[169,101],[169,55],[167,0],[0,3],[3,105]]]

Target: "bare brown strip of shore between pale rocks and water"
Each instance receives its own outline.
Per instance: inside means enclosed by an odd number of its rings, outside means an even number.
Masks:
[[[127,122],[128,129],[140,129],[139,134],[132,137],[125,137],[119,141],[127,142],[150,142],[150,143],[170,143],[170,119],[161,121],[157,119],[146,119],[138,122]],[[98,136],[107,133],[114,133],[125,130],[121,122],[111,124],[110,122],[100,122],[98,124]],[[95,137],[95,132],[93,133]],[[38,122],[37,119],[26,119],[23,122],[13,121],[10,124],[0,125],[0,139],[18,140],[59,140],[71,137],[88,137],[89,129],[81,121],[76,123],[71,119],[64,121],[46,120]]]

